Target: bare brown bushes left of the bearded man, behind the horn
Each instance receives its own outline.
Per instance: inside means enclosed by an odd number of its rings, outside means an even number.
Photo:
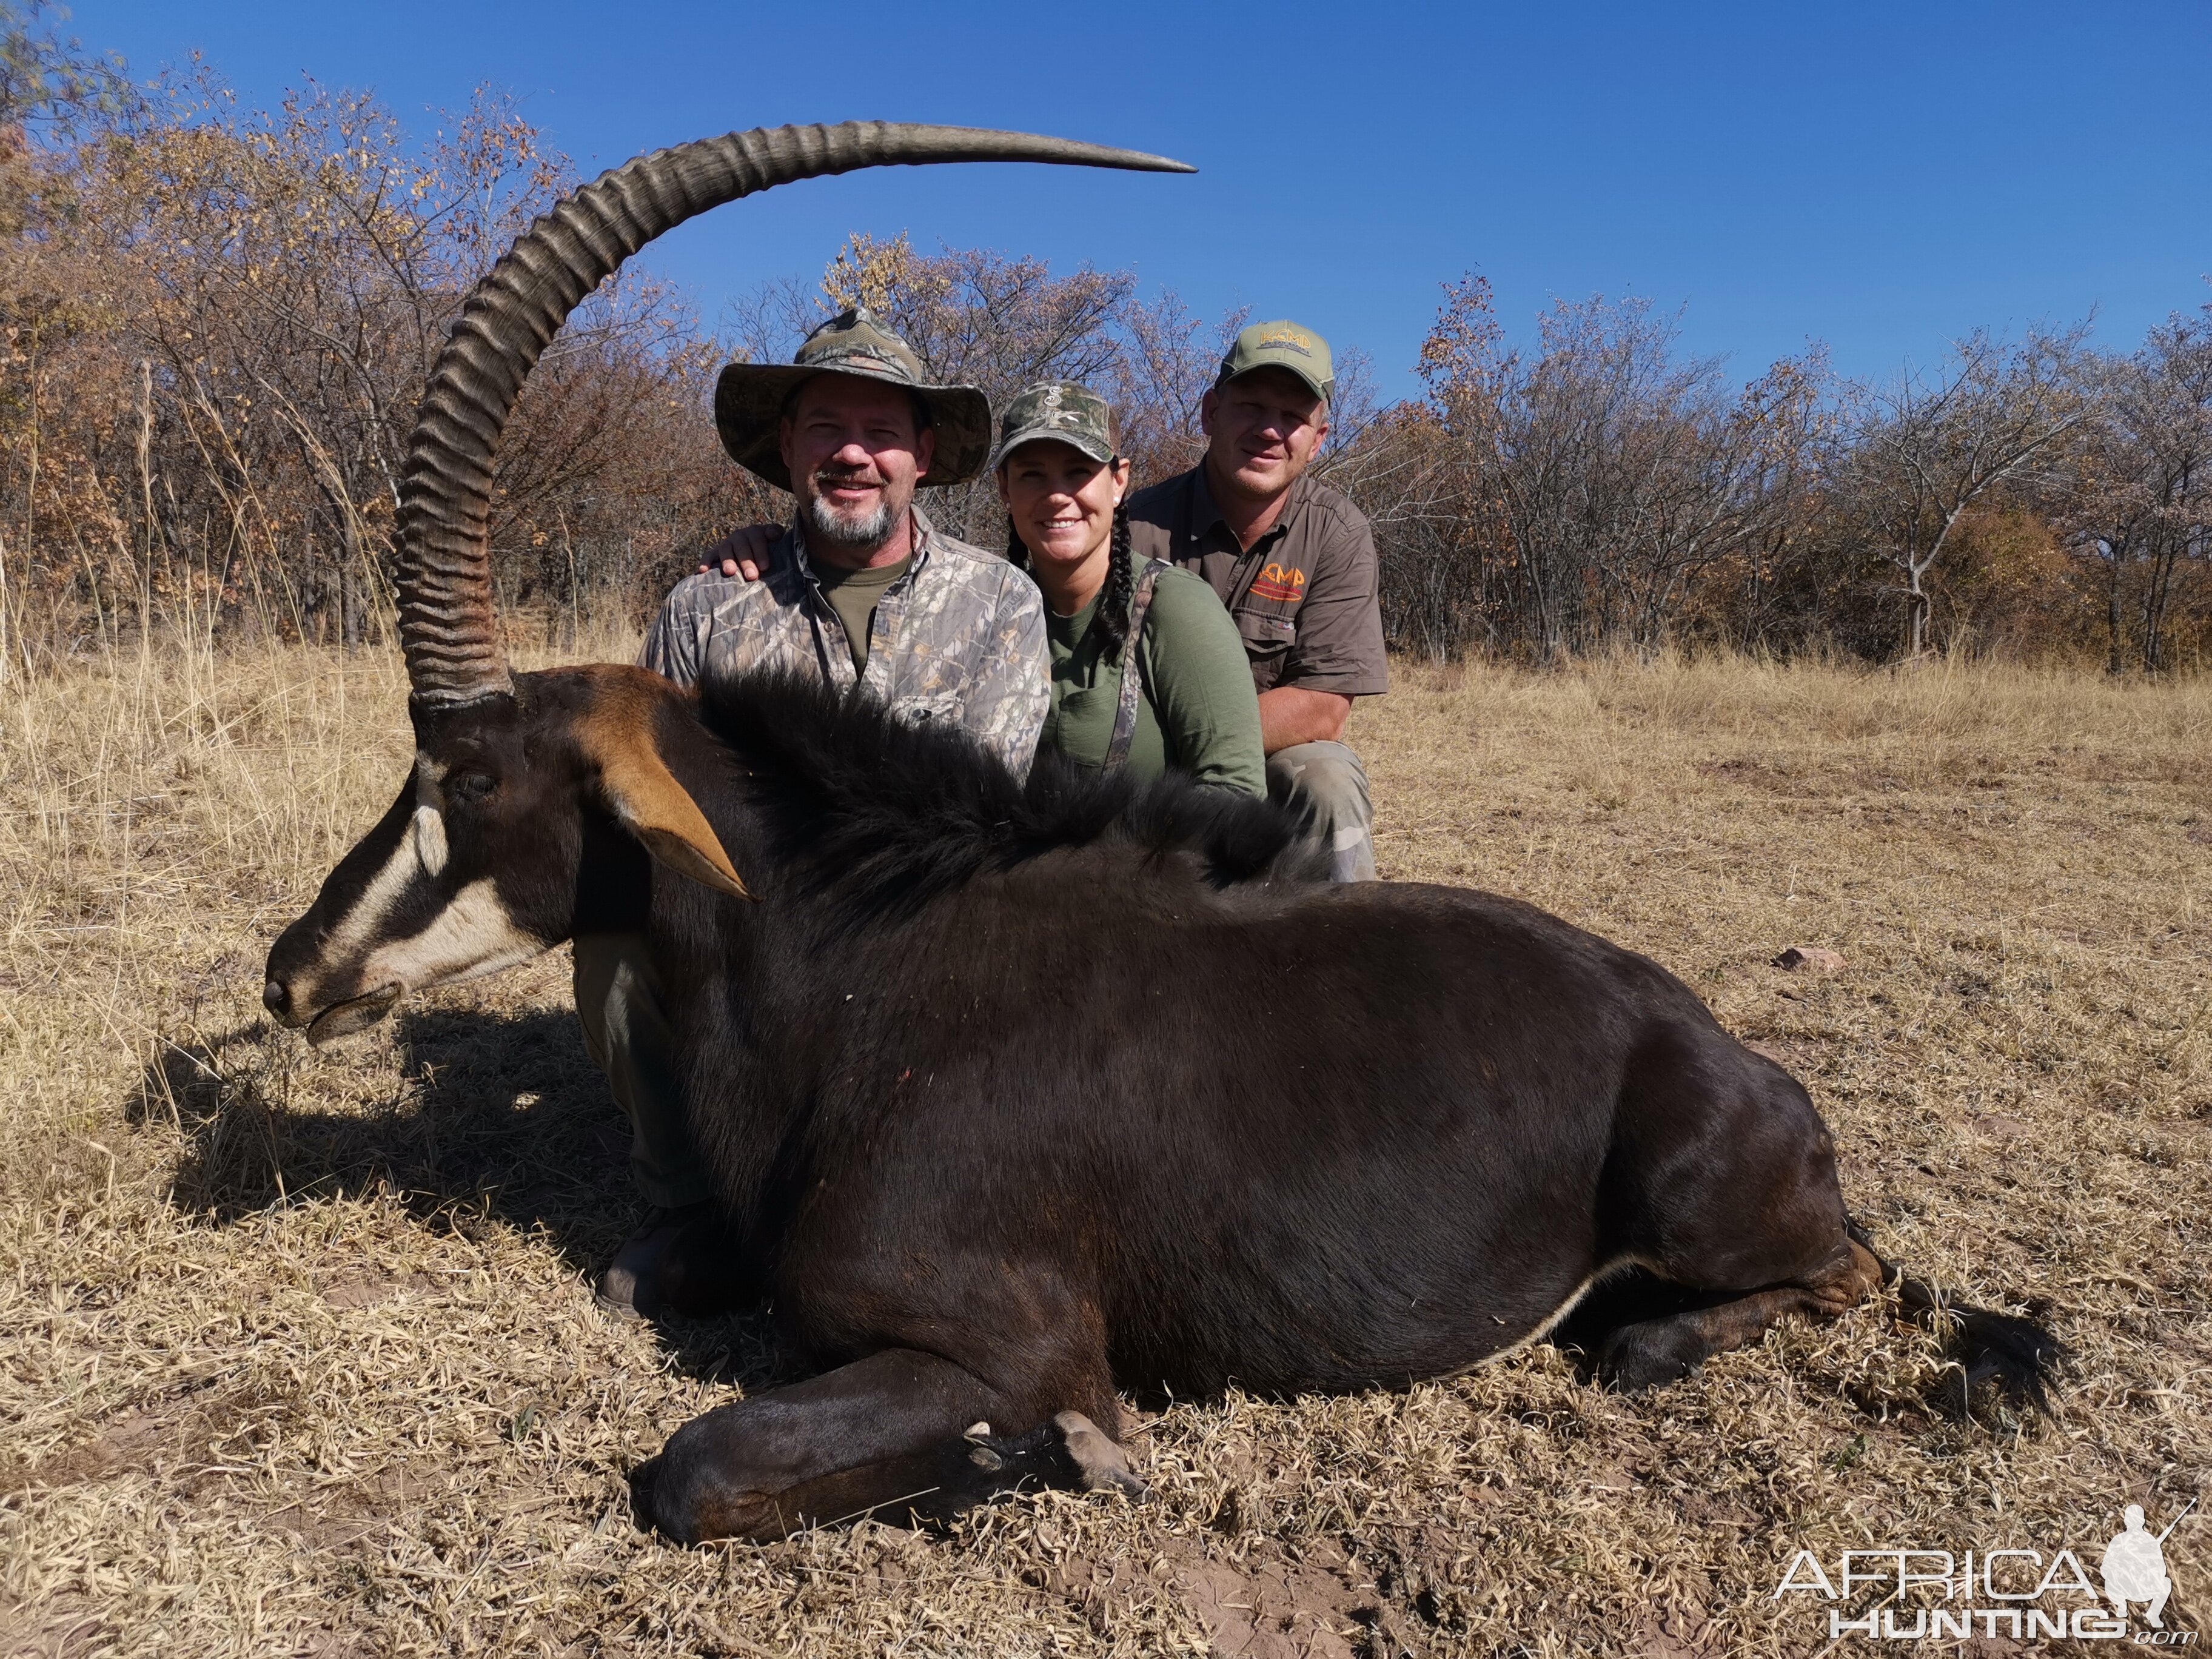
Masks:
[[[429,361],[566,161],[491,95],[411,150],[361,95],[241,113],[206,73],[126,95],[51,35],[9,40],[7,657],[155,626],[380,637]],[[586,303],[500,458],[511,608],[573,633],[759,511],[699,418],[717,356],[664,283]]]

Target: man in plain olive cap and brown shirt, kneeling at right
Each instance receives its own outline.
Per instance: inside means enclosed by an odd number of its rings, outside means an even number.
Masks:
[[[1389,690],[1374,524],[1305,476],[1329,436],[1336,367],[1303,323],[1254,323],[1201,405],[1206,458],[1137,491],[1130,544],[1203,575],[1243,635],[1267,794],[1303,805],[1336,880],[1374,880],[1367,770],[1343,741],[1354,697]]]

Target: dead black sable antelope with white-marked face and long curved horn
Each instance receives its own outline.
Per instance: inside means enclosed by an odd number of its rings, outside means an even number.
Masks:
[[[1117,1389],[1405,1385],[1584,1323],[1679,1378],[1882,1276],[1827,1128],[1655,962],[1528,905],[1332,887],[1303,825],[1188,783],[902,730],[787,681],[509,675],[484,518],[500,427],[568,307],[653,234],[883,161],[1175,164],[843,126],[644,157],[471,296],[409,447],[416,763],[270,953],[316,1042],[584,929],[666,964],[741,1265],[823,1374],[633,1475],[679,1540],[1026,1478],[1133,1484]],[[2039,1394],[2053,1343],[1960,1310]]]

